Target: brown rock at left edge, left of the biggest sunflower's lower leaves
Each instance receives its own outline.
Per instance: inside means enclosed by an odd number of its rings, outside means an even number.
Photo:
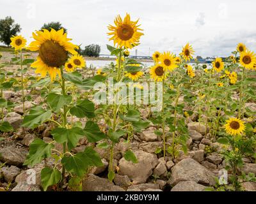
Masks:
[[[14,166],[22,166],[28,154],[27,150],[15,147],[4,147],[0,149],[0,160]]]

